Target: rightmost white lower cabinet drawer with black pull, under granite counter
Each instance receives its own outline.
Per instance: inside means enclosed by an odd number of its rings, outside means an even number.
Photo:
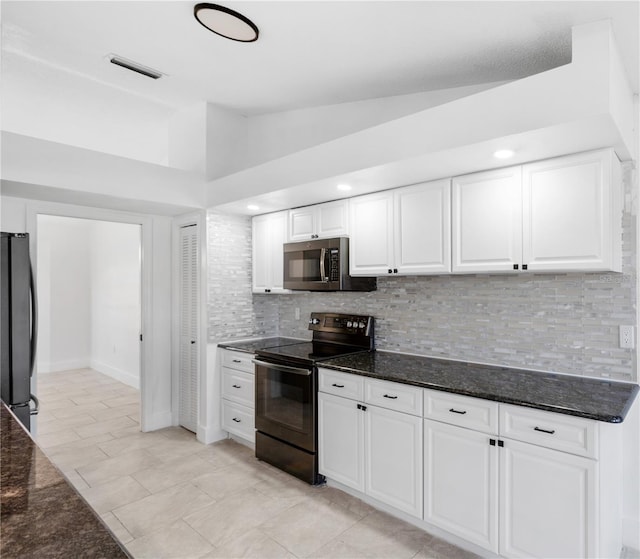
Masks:
[[[570,415],[500,405],[500,436],[597,458],[595,421]]]

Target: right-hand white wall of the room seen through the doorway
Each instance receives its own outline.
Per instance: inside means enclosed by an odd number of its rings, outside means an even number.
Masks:
[[[140,388],[140,226],[90,223],[90,365]]]

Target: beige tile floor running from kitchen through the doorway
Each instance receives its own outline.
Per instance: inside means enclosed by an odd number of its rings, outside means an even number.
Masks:
[[[38,377],[37,440],[134,558],[454,558],[452,546],[235,441],[139,431],[139,394],[90,369]]]

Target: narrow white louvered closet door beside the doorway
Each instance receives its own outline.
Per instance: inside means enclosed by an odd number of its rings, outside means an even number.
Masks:
[[[182,427],[198,425],[198,226],[180,229],[180,412]]]

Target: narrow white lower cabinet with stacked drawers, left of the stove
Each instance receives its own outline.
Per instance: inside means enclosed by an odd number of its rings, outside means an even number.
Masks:
[[[253,355],[221,349],[222,428],[255,443]]]

